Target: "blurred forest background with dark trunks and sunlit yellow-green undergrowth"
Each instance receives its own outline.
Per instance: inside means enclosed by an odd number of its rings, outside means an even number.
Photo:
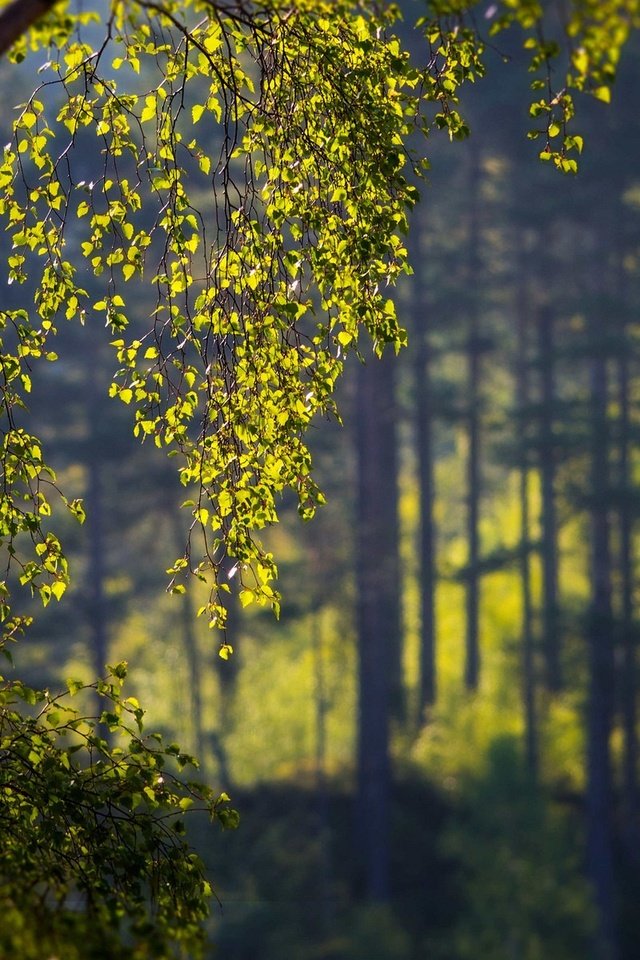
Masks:
[[[56,688],[126,658],[148,726],[232,795],[241,828],[193,837],[228,960],[640,949],[637,44],[613,102],[581,104],[576,178],[527,141],[517,41],[492,56],[463,96],[470,139],[429,144],[395,296],[409,347],[352,358],[344,426],[313,428],[327,505],[304,525],[285,500],[266,536],[280,620],[233,605],[230,658],[195,618],[206,589],[164,591],[183,496],[108,397],[110,331],[61,327],[60,360],[34,380],[34,431],[88,520],[63,531],[68,599],[16,662]],[[30,70],[1,70],[19,101]],[[594,799],[599,709],[613,777]],[[388,785],[373,827],[363,765],[370,789]],[[594,817],[604,904],[587,879]]]

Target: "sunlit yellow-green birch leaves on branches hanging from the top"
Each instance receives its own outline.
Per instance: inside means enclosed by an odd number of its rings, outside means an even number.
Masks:
[[[458,91],[484,73],[474,6],[432,5],[420,21],[426,66],[391,34],[395,7],[344,0],[256,3],[246,14],[197,0],[114,2],[94,44],[80,31],[98,30],[97,14],[59,4],[14,51],[52,46],[0,165],[9,279],[37,286],[34,309],[2,314],[17,335],[7,417],[29,390],[31,360],[55,359],[61,317],[106,321],[119,364],[112,394],[134,409],[137,436],[181,456],[193,544],[170,574],[177,591],[189,570],[212,576],[202,608],[212,626],[225,623],[225,558],[243,605],[278,610],[275,561],[257,534],[277,521],[287,488],[304,518],[323,500],[307,427],[335,413],[361,329],[378,352],[405,340],[385,288],[407,269],[409,173],[423,165],[407,145],[416,127],[468,132]],[[633,4],[605,7],[574,5],[563,91],[608,93]],[[534,71],[560,50],[537,39],[543,19],[537,4],[508,2],[494,24],[527,31]],[[569,93],[549,87],[531,109],[546,118],[543,158],[575,169],[567,153],[581,138],[551,144],[573,115]],[[79,280],[87,270],[103,284],[97,299]],[[128,336],[127,285],[138,282],[154,291],[153,322]],[[29,503],[24,514],[5,508],[7,536],[43,539],[49,471],[37,441],[16,428],[5,446]],[[48,599],[66,571],[55,538],[39,549],[46,562],[19,562]]]

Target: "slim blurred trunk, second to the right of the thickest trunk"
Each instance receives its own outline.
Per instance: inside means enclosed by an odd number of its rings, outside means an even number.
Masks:
[[[466,296],[468,302],[467,340],[467,580],[466,642],[464,682],[476,690],[480,677],[479,595],[480,595],[480,156],[471,150],[469,175],[469,228],[467,239]]]

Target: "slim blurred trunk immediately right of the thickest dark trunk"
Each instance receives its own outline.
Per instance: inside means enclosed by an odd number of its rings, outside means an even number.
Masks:
[[[415,350],[416,438],[420,498],[419,580],[420,580],[420,679],[418,722],[436,701],[436,564],[434,523],[435,482],[433,463],[433,395],[431,387],[430,305],[424,276],[424,244],[420,233],[416,243],[413,280],[413,329]]]

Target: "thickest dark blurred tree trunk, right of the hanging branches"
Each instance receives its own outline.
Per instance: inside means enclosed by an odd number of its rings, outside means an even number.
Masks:
[[[357,376],[356,830],[364,887],[373,900],[390,892],[389,725],[401,702],[394,361],[371,357]]]

